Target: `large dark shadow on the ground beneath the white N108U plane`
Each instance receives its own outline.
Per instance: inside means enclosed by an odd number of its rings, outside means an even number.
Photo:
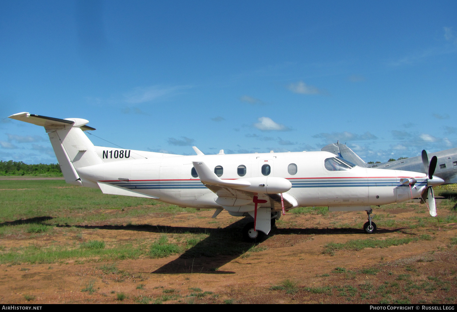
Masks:
[[[214,228],[192,228],[165,225],[73,225],[82,229],[112,229],[112,230],[131,230],[145,231],[153,233],[193,233],[209,234],[209,236],[195,246],[186,250],[177,259],[161,266],[151,273],[157,274],[182,274],[182,273],[204,273],[204,274],[234,274],[232,271],[218,270],[244,254],[251,247],[259,244],[246,243],[242,238],[242,229],[245,224],[251,222],[252,218],[242,218],[237,222],[228,225],[223,229]],[[71,227],[72,225],[59,225],[60,227]],[[402,229],[378,229],[377,233],[386,234],[402,231]],[[342,229],[277,229],[271,230],[268,237],[274,235],[330,235],[330,234],[362,234],[363,229],[342,228]],[[407,233],[405,233],[407,234]],[[266,239],[268,239],[268,237]],[[367,236],[368,237],[368,236]],[[249,263],[244,263],[249,265]]]

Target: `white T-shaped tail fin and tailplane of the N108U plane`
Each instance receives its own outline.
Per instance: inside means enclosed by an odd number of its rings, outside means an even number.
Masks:
[[[96,154],[95,146],[83,132],[96,130],[86,125],[88,120],[59,119],[25,112],[11,115],[9,118],[44,127],[67,183],[82,186],[76,169],[102,163]]]

